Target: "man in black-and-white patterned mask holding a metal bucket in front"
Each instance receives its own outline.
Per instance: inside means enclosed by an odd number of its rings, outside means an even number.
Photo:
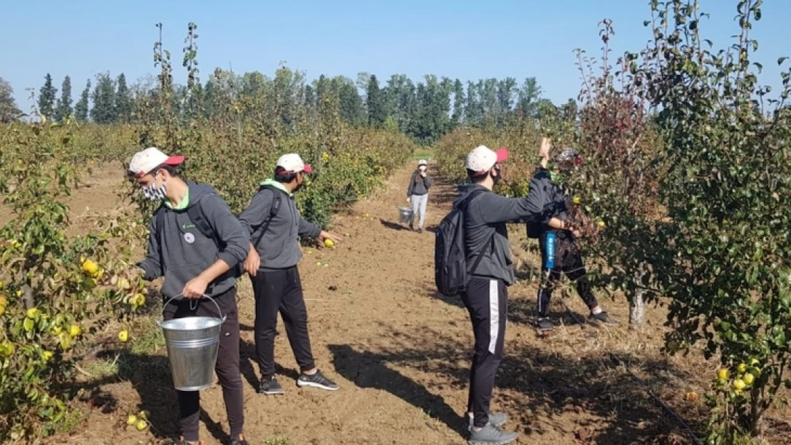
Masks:
[[[184,157],[169,157],[154,147],[132,157],[129,175],[145,198],[161,202],[149,224],[148,252],[138,263],[146,280],[165,277],[161,293],[165,320],[191,316],[225,315],[215,371],[231,428],[231,445],[244,439],[244,394],[239,370],[237,278],[233,268],[248,255],[249,237],[237,217],[207,184],[185,181],[176,171]],[[197,228],[190,214],[197,212],[210,225],[221,246]],[[202,296],[210,300],[200,300]],[[199,443],[198,391],[177,391],[182,436],[178,445]]]

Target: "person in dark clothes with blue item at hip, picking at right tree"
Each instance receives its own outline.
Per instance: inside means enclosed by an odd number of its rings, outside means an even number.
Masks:
[[[529,194],[539,199],[541,206],[551,205],[553,202],[568,200],[568,192],[562,185],[554,183],[551,172],[547,169],[550,160],[551,142],[544,138],[539,155],[541,164],[536,167],[536,173],[530,181]],[[558,171],[562,175],[570,175],[581,164],[582,157],[574,149],[563,149],[558,155]],[[566,210],[547,215],[544,221],[528,223],[528,238],[539,241],[541,251],[542,283],[538,291],[538,318],[536,324],[539,330],[552,330],[553,324],[549,319],[549,306],[553,289],[560,281],[561,273],[565,273],[577,288],[577,294],[590,310],[590,322],[605,322],[617,324],[607,312],[603,311],[596,296],[593,295],[591,285],[586,276],[585,263],[582,260],[577,239],[582,232],[577,228]],[[551,245],[552,244],[552,245]],[[547,255],[547,251],[554,251],[554,258]]]

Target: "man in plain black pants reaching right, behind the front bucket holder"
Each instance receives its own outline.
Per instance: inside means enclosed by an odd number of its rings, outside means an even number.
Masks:
[[[258,388],[260,394],[283,394],[274,377],[278,312],[282,315],[291,350],[300,367],[297,386],[338,389],[335,382],[316,368],[313,360],[308,311],[297,269],[302,258],[300,236],[320,241],[341,240],[339,236],[303,220],[294,202],[293,194],[305,184],[305,174],[312,172],[312,167],[305,164],[298,154],[283,155],[274,169],[274,179],[261,183],[258,193],[239,216],[252,239],[244,270],[250,275],[255,294],[255,353],[262,375]]]

